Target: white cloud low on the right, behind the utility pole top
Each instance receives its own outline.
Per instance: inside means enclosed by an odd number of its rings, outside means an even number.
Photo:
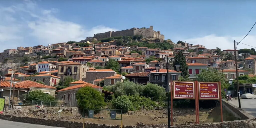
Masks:
[[[190,39],[183,39],[186,40],[186,42],[197,45],[204,45],[207,47],[207,49],[216,49],[216,47],[221,48],[222,50],[224,49],[234,49],[234,43],[233,41],[241,41],[244,36],[237,36],[237,37],[231,37],[231,36],[216,36],[214,34],[204,36],[204,37],[197,37],[197,38],[190,38]],[[248,35],[242,43],[254,46],[256,47],[256,36],[255,35]],[[244,44],[239,44],[237,49],[242,49],[242,48],[248,48],[251,49],[252,47],[244,45]]]

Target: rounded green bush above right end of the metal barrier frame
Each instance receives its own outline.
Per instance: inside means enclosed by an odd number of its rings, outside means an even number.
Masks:
[[[114,98],[111,100],[111,105],[114,109],[122,109],[124,113],[128,110],[133,110],[132,103],[126,95]]]

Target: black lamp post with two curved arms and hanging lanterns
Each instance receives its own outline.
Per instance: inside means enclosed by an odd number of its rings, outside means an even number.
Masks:
[[[166,63],[166,69],[167,69],[167,74],[166,74],[166,77],[167,77],[167,82],[166,82],[166,86],[167,86],[167,92],[168,92],[168,128],[170,128],[170,122],[171,122],[171,120],[170,120],[170,91],[169,91],[169,89],[170,89],[170,87],[169,87],[169,68],[170,68],[170,66],[172,66],[173,65],[173,63],[171,64],[171,65],[169,65],[170,64],[170,61],[171,60],[173,60],[173,58],[172,59],[170,59],[169,61],[168,61],[168,57],[166,57],[167,59],[167,61],[165,60],[165,59],[159,59],[158,61],[157,61],[157,64],[155,65],[155,68],[156,68],[156,72],[159,72],[159,70],[160,70],[160,65],[158,64],[158,62],[160,62],[161,60],[163,60],[165,63]],[[178,62],[178,60],[177,60],[177,62]],[[178,62],[178,63],[176,63],[176,71],[179,71],[179,69],[180,69],[180,63]],[[171,78],[171,83],[172,83],[172,78]]]

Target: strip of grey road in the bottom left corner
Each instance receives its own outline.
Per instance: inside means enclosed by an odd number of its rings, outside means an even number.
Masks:
[[[28,123],[20,123],[20,122],[13,122],[7,120],[0,120],[0,127],[1,128],[61,128],[61,127],[51,127],[39,124],[28,124]]]

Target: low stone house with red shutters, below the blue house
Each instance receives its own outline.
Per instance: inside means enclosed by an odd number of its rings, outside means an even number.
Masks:
[[[31,78],[36,82],[40,81],[43,82],[45,85],[48,86],[58,86],[60,82],[60,77],[51,75],[51,74],[39,74],[36,76],[31,76]]]

